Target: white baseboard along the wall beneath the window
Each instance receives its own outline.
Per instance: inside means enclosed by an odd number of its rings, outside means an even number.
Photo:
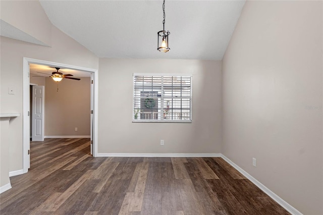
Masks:
[[[98,157],[220,157],[221,154],[198,153],[97,153]]]

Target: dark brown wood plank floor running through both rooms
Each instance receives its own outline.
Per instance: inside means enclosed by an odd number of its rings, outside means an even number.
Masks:
[[[89,139],[31,142],[0,214],[289,214],[220,157],[92,157]]]

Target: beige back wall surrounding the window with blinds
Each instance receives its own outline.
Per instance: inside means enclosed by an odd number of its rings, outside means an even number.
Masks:
[[[99,153],[221,152],[221,61],[100,59],[99,67]],[[193,122],[132,123],[133,73],[192,73]]]

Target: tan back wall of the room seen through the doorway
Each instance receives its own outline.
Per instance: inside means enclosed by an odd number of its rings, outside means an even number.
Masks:
[[[45,79],[45,136],[90,135],[90,78]]]

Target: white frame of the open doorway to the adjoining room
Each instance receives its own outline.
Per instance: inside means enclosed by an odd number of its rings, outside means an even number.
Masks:
[[[23,173],[27,173],[30,167],[30,156],[29,156],[29,148],[30,148],[30,92],[29,92],[29,84],[30,84],[30,74],[29,74],[29,64],[39,64],[45,65],[50,67],[61,67],[66,69],[73,69],[79,70],[82,72],[89,72],[91,73],[91,77],[93,83],[91,83],[91,139],[92,139],[92,146],[93,146],[93,157],[97,156],[97,128],[98,128],[98,70],[96,69],[89,69],[85,67],[49,62],[49,61],[42,61],[37,59],[31,58],[23,58]],[[92,147],[91,147],[92,150]]]

